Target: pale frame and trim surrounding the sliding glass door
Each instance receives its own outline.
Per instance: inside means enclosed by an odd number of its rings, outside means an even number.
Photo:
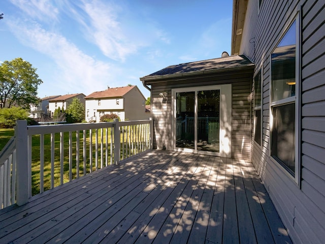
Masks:
[[[197,141],[194,142],[194,149],[176,147],[176,93],[195,92],[194,99],[194,117],[198,117],[198,90],[220,90],[220,111],[219,111],[219,153],[212,151],[202,151],[197,149]],[[232,121],[232,85],[208,85],[208,86],[191,86],[184,88],[172,89],[172,149],[177,151],[186,151],[188,153],[200,153],[205,155],[220,156],[231,158],[231,121]],[[194,138],[197,139],[197,119],[194,119]]]

